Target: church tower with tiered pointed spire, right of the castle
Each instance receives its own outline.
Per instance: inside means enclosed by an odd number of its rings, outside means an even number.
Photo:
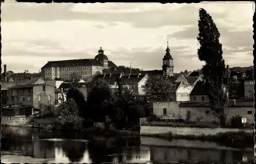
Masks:
[[[163,75],[166,76],[174,76],[174,64],[173,64],[173,57],[170,55],[170,49],[168,46],[168,41],[167,41],[167,48],[166,48],[166,53],[165,56],[163,57]]]

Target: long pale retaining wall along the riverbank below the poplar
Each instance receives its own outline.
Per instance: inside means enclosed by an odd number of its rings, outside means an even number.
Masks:
[[[164,126],[141,126],[141,134],[159,134],[172,132],[175,135],[214,135],[219,132],[241,131],[240,129],[229,128],[191,128],[191,127],[164,127]],[[243,129],[245,132],[253,132],[253,129]]]

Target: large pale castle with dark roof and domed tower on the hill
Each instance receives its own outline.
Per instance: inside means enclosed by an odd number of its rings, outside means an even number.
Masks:
[[[41,76],[45,80],[54,80],[55,78],[65,80],[76,74],[90,81],[96,74],[102,74],[103,69],[116,67],[112,61],[109,61],[104,50],[100,47],[94,59],[49,61],[41,68]]]

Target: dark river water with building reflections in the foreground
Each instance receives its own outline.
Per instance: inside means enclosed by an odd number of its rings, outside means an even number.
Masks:
[[[253,146],[148,137],[93,136],[2,127],[3,163],[253,162]]]

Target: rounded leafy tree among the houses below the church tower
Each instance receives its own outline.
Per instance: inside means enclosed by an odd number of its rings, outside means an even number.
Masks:
[[[175,84],[164,76],[148,76],[142,88],[150,101],[169,101],[175,93]]]

